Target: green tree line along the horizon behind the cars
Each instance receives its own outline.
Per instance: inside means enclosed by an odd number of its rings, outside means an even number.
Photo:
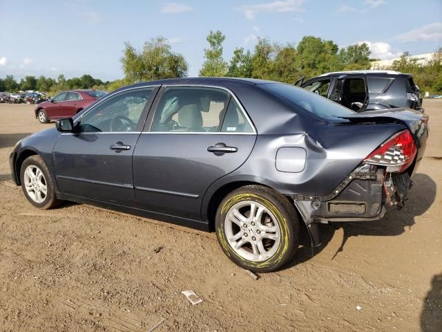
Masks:
[[[367,44],[354,44],[339,48],[332,40],[305,36],[295,45],[278,44],[267,38],[258,38],[253,50],[235,48],[229,62],[224,59],[223,43],[226,36],[221,31],[211,31],[206,40],[204,62],[200,76],[251,77],[293,84],[300,77],[306,79],[331,71],[363,70],[371,67],[376,59],[370,57]],[[393,62],[390,69],[411,73],[421,91],[442,92],[442,48],[436,50],[434,59],[425,66],[404,53]],[[124,78],[102,82],[90,75],[66,80],[40,76],[26,76],[16,82],[11,75],[0,79],[0,91],[39,90],[55,93],[64,89],[102,89],[112,91],[135,82],[186,77],[188,64],[184,56],[172,50],[164,37],[155,37],[144,43],[141,49],[124,44],[121,59]]]

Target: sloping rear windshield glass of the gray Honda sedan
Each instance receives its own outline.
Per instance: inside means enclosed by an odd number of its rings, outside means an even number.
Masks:
[[[272,95],[276,95],[279,98],[289,102],[309,113],[326,119],[326,120],[340,120],[340,116],[349,116],[356,112],[351,109],[347,109],[336,102],[332,102],[327,98],[321,97],[316,93],[311,93],[304,89],[300,89],[296,86],[282,83],[265,83],[260,86],[269,91]]]

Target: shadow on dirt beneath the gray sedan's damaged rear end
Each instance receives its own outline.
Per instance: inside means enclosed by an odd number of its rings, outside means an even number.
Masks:
[[[344,237],[340,248],[334,254],[334,257],[342,252],[345,243],[349,237],[358,237],[359,235],[374,237],[395,237],[402,234],[405,228],[412,228],[414,217],[425,213],[436,197],[436,183],[426,174],[416,174],[413,176],[414,186],[409,192],[409,199],[405,202],[402,210],[390,208],[383,219],[377,221],[354,221],[346,223],[329,223],[320,225],[321,245],[314,248],[314,255],[321,252],[329,241],[332,240],[334,232],[343,228]],[[310,238],[307,230],[301,234],[301,247],[296,252],[294,261],[289,266],[296,266],[304,261],[311,259]],[[334,257],[332,259],[334,259]],[[442,331],[442,330],[441,330]]]

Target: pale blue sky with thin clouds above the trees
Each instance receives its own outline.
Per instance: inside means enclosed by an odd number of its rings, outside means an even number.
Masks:
[[[169,39],[198,75],[210,30],[226,35],[224,58],[257,37],[297,44],[305,35],[339,46],[369,42],[373,57],[442,46],[441,0],[17,1],[0,0],[0,77],[123,77],[124,42]]]

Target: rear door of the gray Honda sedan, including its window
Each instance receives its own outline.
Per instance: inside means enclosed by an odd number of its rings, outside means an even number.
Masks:
[[[229,91],[165,86],[133,154],[139,208],[200,220],[207,188],[247,160],[256,131]]]

